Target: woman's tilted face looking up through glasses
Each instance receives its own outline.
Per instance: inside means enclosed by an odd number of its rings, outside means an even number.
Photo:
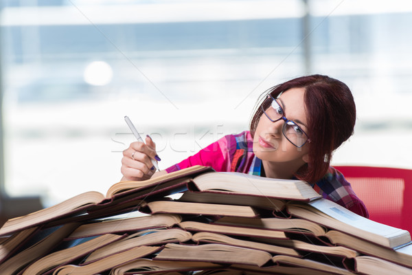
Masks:
[[[277,102],[284,110],[286,118],[293,120],[308,133],[304,94],[304,88],[288,89],[277,98]],[[284,120],[272,122],[263,113],[253,137],[253,153],[268,162],[291,162],[297,166],[304,165],[308,162],[308,142],[301,148],[290,143],[282,133],[284,123]]]

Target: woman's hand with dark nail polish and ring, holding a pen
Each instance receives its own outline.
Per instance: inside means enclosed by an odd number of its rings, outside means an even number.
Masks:
[[[122,180],[141,181],[150,179],[156,168],[152,159],[160,160],[156,153],[156,144],[146,135],[146,144],[133,142],[123,151]]]

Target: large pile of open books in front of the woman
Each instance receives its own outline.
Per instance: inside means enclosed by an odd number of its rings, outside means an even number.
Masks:
[[[304,181],[194,166],[10,219],[0,274],[412,274],[412,244]]]

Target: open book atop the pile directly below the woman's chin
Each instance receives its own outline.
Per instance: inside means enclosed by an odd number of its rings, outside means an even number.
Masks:
[[[255,195],[276,199],[312,201],[321,198],[306,181],[271,179],[233,172],[203,173],[189,184],[192,192]]]

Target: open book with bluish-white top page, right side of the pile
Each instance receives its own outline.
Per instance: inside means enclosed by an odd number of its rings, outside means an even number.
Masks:
[[[387,248],[411,242],[411,234],[407,230],[366,219],[328,199],[317,199],[309,203],[289,201],[287,210],[294,217],[308,219]]]

